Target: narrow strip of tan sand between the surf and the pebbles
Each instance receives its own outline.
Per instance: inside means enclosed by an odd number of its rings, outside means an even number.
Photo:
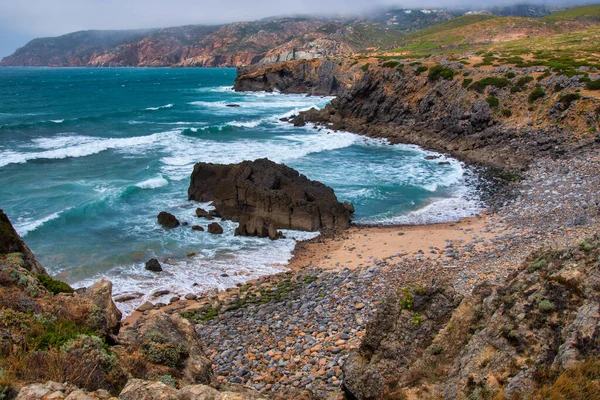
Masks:
[[[469,239],[489,237],[490,223],[490,215],[484,210],[480,215],[460,218],[455,222],[409,225],[353,224],[346,230],[321,232],[315,238],[296,242],[285,271],[263,275],[225,290],[209,290],[209,294],[195,299],[179,299],[146,311],[136,309],[121,323],[127,328],[134,326],[141,317],[156,312],[196,309],[209,304],[215,298],[226,302],[235,297],[244,286],[259,286],[264,282],[277,281],[282,276],[304,275],[314,271],[337,273],[343,269],[360,269],[370,262],[386,262],[398,257],[436,258],[446,268],[454,268],[449,261],[448,254],[451,252],[448,249]],[[372,247],[358,243],[364,237],[367,237]],[[364,252],[369,252],[369,255],[363,256]]]

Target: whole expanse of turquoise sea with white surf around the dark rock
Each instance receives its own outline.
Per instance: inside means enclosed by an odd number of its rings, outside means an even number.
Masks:
[[[0,207],[51,273],[76,286],[106,276],[116,294],[148,295],[224,288],[284,268],[292,238],[310,234],[271,242],[234,237],[230,222],[223,236],[157,225],[163,210],[206,225],[187,201],[198,161],[286,163],[353,202],[358,222],[478,210],[459,162],[293,127],[279,119],[331,98],[235,93],[234,78],[233,69],[0,69]],[[144,271],[151,257],[165,272]]]

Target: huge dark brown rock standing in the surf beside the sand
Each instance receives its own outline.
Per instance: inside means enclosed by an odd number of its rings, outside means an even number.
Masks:
[[[316,231],[350,226],[350,211],[328,186],[267,159],[194,166],[190,200],[212,201],[236,233],[267,237],[269,228]]]

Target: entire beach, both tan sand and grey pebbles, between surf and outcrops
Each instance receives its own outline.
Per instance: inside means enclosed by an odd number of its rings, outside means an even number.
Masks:
[[[542,159],[515,185],[515,197],[481,218],[323,235],[300,244],[292,272],[162,310],[197,323],[218,382],[268,398],[298,390],[308,398],[341,398],[347,358],[386,297],[434,285],[468,296],[483,282],[504,282],[531,253],[577,247],[597,233],[598,168],[597,151]]]

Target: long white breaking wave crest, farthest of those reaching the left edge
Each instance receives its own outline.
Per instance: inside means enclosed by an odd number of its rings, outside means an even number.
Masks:
[[[64,159],[90,156],[106,150],[132,148],[157,142],[164,133],[131,138],[96,138],[89,136],[59,136],[55,138],[36,139],[46,151],[16,152],[12,150],[0,152],[0,167],[9,164],[23,164],[36,159]]]

